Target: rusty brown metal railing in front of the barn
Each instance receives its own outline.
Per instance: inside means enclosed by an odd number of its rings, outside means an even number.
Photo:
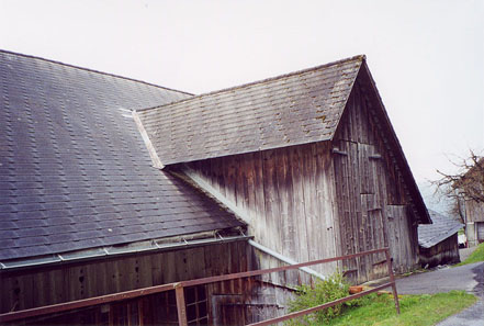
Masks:
[[[367,291],[363,291],[363,292],[360,292],[357,294],[352,294],[352,295],[349,295],[349,296],[346,296],[346,297],[342,297],[342,299],[339,299],[336,301],[331,301],[331,302],[328,302],[328,303],[325,303],[325,304],[322,304],[322,305],[318,305],[315,307],[311,307],[311,308],[303,310],[303,311],[295,312],[295,313],[291,313],[291,314],[288,314],[284,316],[267,319],[263,322],[250,324],[249,326],[272,325],[272,324],[275,324],[279,322],[304,316],[304,315],[307,315],[307,314],[311,314],[311,313],[314,313],[314,312],[317,312],[317,311],[320,311],[324,308],[328,308],[330,306],[334,306],[334,305],[337,305],[337,304],[340,304],[340,303],[344,303],[344,302],[347,302],[347,301],[350,301],[353,299],[361,297],[363,295],[368,295],[370,293],[383,290],[389,286],[392,286],[396,313],[399,314],[398,296],[396,293],[396,285],[395,285],[393,269],[392,269],[392,260],[390,257],[390,250],[389,250],[389,248],[382,248],[382,249],[374,249],[374,250],[363,251],[363,252],[353,254],[353,255],[347,255],[347,256],[319,259],[319,260],[314,260],[314,261],[308,261],[308,262],[302,262],[302,263],[296,263],[296,265],[291,265],[291,266],[283,266],[283,267],[269,268],[269,269],[262,269],[262,270],[238,272],[238,273],[217,276],[217,277],[209,277],[209,278],[181,281],[181,282],[173,282],[173,283],[168,283],[168,284],[162,284],[162,285],[155,285],[155,286],[149,286],[149,288],[144,288],[144,289],[137,289],[137,290],[132,290],[132,291],[126,291],[126,292],[114,293],[114,294],[106,294],[106,295],[97,296],[97,297],[90,297],[90,299],[59,303],[59,304],[54,304],[54,305],[48,305],[48,306],[41,306],[41,307],[35,307],[35,308],[30,308],[30,310],[23,310],[23,311],[19,311],[19,312],[11,312],[11,313],[5,313],[5,314],[0,314],[0,323],[13,322],[13,321],[36,317],[36,316],[42,316],[42,315],[48,315],[48,314],[54,314],[54,313],[60,313],[60,312],[67,312],[67,311],[71,311],[71,310],[89,307],[89,306],[94,306],[94,305],[99,305],[99,304],[106,304],[106,303],[111,303],[111,302],[119,302],[119,301],[123,301],[123,300],[127,300],[127,299],[134,299],[134,297],[139,297],[139,296],[149,295],[149,294],[175,290],[176,301],[177,301],[178,323],[180,326],[187,326],[188,325],[187,307],[185,307],[184,291],[183,291],[183,289],[187,286],[194,286],[194,285],[202,285],[202,284],[209,284],[209,283],[215,283],[215,282],[222,282],[222,281],[229,281],[229,280],[236,280],[236,279],[243,279],[243,278],[257,277],[257,276],[262,276],[262,274],[272,273],[272,272],[280,272],[280,271],[285,271],[285,270],[299,269],[299,268],[307,267],[307,266],[334,262],[334,261],[339,261],[339,260],[347,260],[347,259],[352,259],[352,258],[379,254],[379,252],[384,252],[386,256],[386,263],[389,267],[390,282],[387,282],[385,284],[381,284],[381,285],[373,288],[371,290],[367,290]]]

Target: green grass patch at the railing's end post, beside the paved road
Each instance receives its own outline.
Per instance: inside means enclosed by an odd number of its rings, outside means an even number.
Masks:
[[[451,291],[432,295],[401,295],[399,297],[399,315],[396,314],[392,295],[372,295],[362,306],[348,307],[342,315],[324,325],[435,325],[446,317],[471,306],[477,300],[476,296],[464,291]]]

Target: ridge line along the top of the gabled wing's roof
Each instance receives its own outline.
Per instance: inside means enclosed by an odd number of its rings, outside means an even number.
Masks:
[[[237,89],[246,88],[246,87],[249,87],[249,86],[254,86],[254,85],[258,85],[258,83],[263,83],[263,82],[268,82],[268,81],[272,81],[272,80],[278,80],[278,79],[282,79],[282,78],[286,78],[286,77],[291,77],[291,76],[295,76],[295,75],[300,75],[300,74],[305,74],[305,72],[309,72],[309,71],[313,71],[313,70],[318,70],[318,69],[322,69],[322,68],[326,68],[326,67],[329,67],[329,66],[335,66],[335,65],[339,65],[339,64],[342,64],[342,63],[352,61],[352,60],[357,60],[357,59],[360,59],[360,60],[364,61],[364,60],[367,60],[367,56],[365,55],[357,55],[357,56],[348,57],[348,58],[345,58],[345,59],[336,60],[336,61],[333,61],[333,63],[328,63],[328,64],[324,64],[324,65],[319,65],[319,66],[315,66],[315,67],[311,67],[311,68],[300,69],[300,70],[296,70],[296,71],[278,75],[278,76],[274,76],[274,77],[269,77],[269,78],[264,78],[264,79],[260,79],[260,80],[256,80],[256,81],[250,81],[250,82],[246,82],[246,83],[238,85],[238,86],[233,86],[233,87],[223,88],[223,89],[215,90],[215,91],[210,91],[210,92],[206,92],[206,93],[194,95],[194,97],[189,98],[189,99],[183,99],[183,100],[171,102],[171,103],[167,103],[167,104],[164,104],[164,105],[138,109],[137,111],[147,111],[147,110],[164,108],[164,106],[168,106],[168,105],[171,105],[171,104],[175,104],[175,103],[182,103],[182,102],[185,102],[185,101],[190,101],[190,100],[194,100],[194,99],[200,99],[200,98],[207,97],[207,95],[213,95],[213,94],[217,94],[217,93],[228,92],[228,91],[232,91],[232,90],[237,90]]]

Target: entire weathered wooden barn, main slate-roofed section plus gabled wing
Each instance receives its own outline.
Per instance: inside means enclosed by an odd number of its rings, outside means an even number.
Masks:
[[[0,314],[385,246],[418,265],[430,218],[364,56],[192,95],[0,52]],[[185,289],[188,319],[264,319],[293,285],[383,260]],[[169,325],[173,301],[20,323]]]

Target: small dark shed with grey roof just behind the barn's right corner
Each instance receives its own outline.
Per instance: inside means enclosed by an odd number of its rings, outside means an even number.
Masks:
[[[461,261],[458,232],[464,225],[452,217],[429,210],[432,224],[418,226],[420,266],[436,267]]]

